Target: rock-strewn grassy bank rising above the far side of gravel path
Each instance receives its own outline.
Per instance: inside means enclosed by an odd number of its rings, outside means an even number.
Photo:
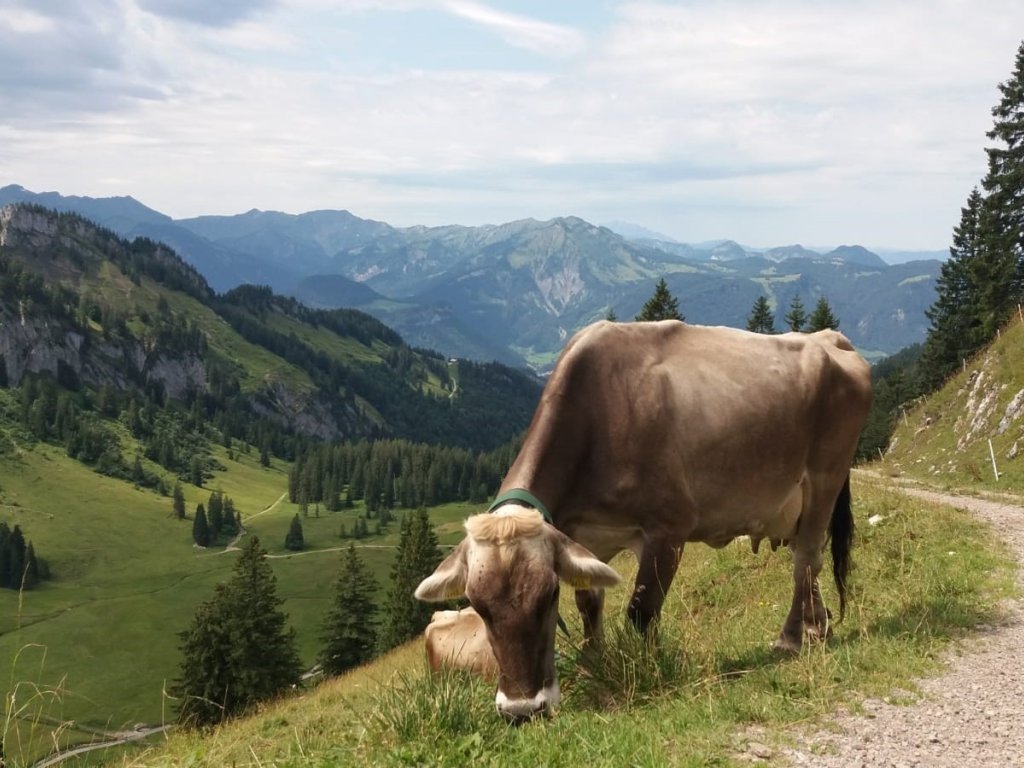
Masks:
[[[1024,411],[999,432],[999,423],[1024,391],[1024,326],[1015,317],[999,338],[967,360],[946,385],[907,411],[880,468],[974,490],[1024,490],[1024,456],[1009,458],[1019,441],[1024,454]],[[992,441],[1000,477],[988,451]]]

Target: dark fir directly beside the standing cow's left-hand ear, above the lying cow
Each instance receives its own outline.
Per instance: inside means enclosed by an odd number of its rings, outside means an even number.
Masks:
[[[441,560],[437,535],[422,507],[401,518],[398,550],[391,566],[391,583],[384,598],[381,650],[388,650],[423,632],[436,606],[413,597],[420,582],[430,575]]]

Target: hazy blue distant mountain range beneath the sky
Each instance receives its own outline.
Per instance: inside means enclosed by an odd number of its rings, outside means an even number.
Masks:
[[[745,326],[764,295],[781,329],[796,297],[809,311],[823,296],[858,348],[882,357],[924,339],[941,265],[890,264],[856,245],[685,244],[617,224],[626,237],[572,216],[431,227],[342,210],[172,219],[132,198],[0,188],[0,205],[13,202],[165,243],[216,291],[266,285],[311,307],[366,311],[414,346],[538,370],[587,323],[609,312],[631,318],[663,276],[686,318],[708,325]]]

